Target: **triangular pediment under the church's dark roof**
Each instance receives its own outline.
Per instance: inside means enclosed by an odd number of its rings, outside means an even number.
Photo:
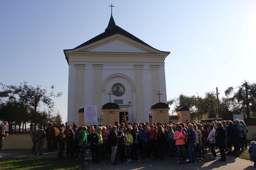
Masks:
[[[124,52],[124,53],[159,53],[158,50],[137,41],[115,34],[89,45],[75,49],[77,52]]]

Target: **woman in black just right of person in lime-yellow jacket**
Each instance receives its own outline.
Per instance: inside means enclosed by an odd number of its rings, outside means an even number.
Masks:
[[[137,157],[137,151],[139,148],[140,135],[139,135],[138,126],[136,124],[132,126],[131,134],[133,138],[132,147],[131,147],[131,160],[135,160],[135,159],[139,160]]]

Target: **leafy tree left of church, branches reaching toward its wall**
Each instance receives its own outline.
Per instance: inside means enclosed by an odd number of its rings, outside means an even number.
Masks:
[[[52,101],[51,97],[60,97],[62,95],[62,92],[57,92],[57,94],[54,94],[54,85],[51,86],[51,92],[47,94],[47,90],[44,88],[42,89],[41,86],[37,85],[36,87],[29,86],[27,82],[20,83],[19,86],[3,86],[3,96],[9,96],[10,97],[18,97],[18,101],[20,103],[23,103],[31,112],[30,112],[30,121],[31,121],[31,129],[32,124],[39,123],[38,120],[38,106],[41,104],[44,104],[47,106],[49,112],[53,111],[54,102]],[[8,95],[6,95],[6,93]]]

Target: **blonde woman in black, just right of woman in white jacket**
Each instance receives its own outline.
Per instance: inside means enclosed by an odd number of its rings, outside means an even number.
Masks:
[[[221,159],[219,161],[226,161],[225,155],[225,140],[226,140],[226,131],[223,128],[222,122],[217,122],[217,129],[215,133],[216,137],[216,145],[219,148],[219,152],[221,153]]]

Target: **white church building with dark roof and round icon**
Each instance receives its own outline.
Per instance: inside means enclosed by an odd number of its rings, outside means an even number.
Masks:
[[[97,106],[101,116],[104,104],[116,103],[129,121],[146,122],[159,97],[167,103],[165,58],[170,52],[116,26],[112,15],[105,32],[64,53],[69,65],[68,125],[79,124],[78,111],[84,106]]]

